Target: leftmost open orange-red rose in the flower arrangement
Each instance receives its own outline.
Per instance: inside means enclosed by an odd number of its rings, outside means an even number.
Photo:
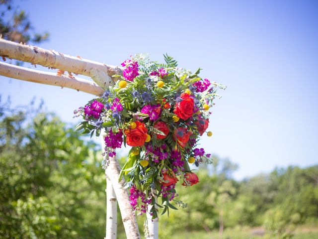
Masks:
[[[126,142],[129,146],[142,146],[147,138],[147,128],[140,121],[135,121],[136,128],[125,130]]]

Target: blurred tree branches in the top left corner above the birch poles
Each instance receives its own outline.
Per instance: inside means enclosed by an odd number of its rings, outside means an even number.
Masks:
[[[35,32],[28,15],[13,0],[0,0],[0,34],[6,40],[22,43],[39,43],[49,36],[47,32]]]

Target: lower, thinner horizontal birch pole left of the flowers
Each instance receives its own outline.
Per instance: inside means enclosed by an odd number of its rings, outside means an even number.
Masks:
[[[57,76],[56,73],[38,71],[25,67],[15,66],[0,62],[0,75],[45,85],[71,88],[77,91],[86,92],[92,95],[103,94],[103,89],[92,81],[87,81],[79,77]]]

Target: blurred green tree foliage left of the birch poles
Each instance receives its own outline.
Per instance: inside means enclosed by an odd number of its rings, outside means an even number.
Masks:
[[[101,156],[72,126],[0,108],[0,238],[103,238]]]

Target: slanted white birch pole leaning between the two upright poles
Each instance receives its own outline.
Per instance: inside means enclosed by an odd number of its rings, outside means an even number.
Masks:
[[[105,137],[105,132],[101,132],[101,137]],[[102,140],[104,142],[104,140]],[[104,148],[105,146],[103,146]],[[109,164],[105,170],[106,177],[110,180],[115,191],[118,205],[124,224],[127,239],[140,239],[137,220],[134,215],[133,207],[130,205],[128,191],[124,189],[125,181],[119,181],[120,166],[118,160],[113,157],[109,158]],[[108,217],[108,216],[107,216]]]

